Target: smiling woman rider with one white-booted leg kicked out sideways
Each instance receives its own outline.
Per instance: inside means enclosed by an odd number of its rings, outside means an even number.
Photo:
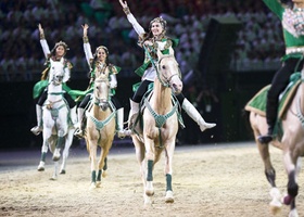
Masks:
[[[156,17],[150,22],[150,31],[145,33],[144,29],[140,26],[134,15],[130,13],[128,4],[126,1],[119,0],[121,5],[123,7],[124,12],[127,15],[129,23],[132,25],[134,29],[139,36],[139,46],[148,47],[144,49],[144,63],[136,71],[136,73],[141,76],[141,84],[137,91],[135,92],[132,99],[130,100],[130,113],[128,119],[129,129],[132,128],[132,124],[136,120],[139,113],[139,103],[147,92],[148,87],[151,82],[154,81],[156,76],[156,71],[151,63],[152,59],[154,64],[157,62],[156,50],[160,49],[163,54],[168,54],[168,49],[177,46],[178,40],[168,38],[166,34],[166,21],[162,17]],[[151,59],[152,58],[152,59]],[[213,128],[216,124],[206,123],[201,114],[197,111],[197,108],[183,97],[182,93],[176,95],[181,107],[186,111],[186,113],[198,123],[201,131],[205,129]],[[128,130],[128,133],[130,131]]]

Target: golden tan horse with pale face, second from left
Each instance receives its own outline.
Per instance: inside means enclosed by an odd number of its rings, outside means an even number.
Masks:
[[[105,177],[106,156],[115,136],[115,110],[109,98],[109,76],[101,74],[94,81],[92,105],[87,112],[86,143],[91,161],[90,189],[100,187],[101,176]],[[97,149],[101,148],[97,164]]]

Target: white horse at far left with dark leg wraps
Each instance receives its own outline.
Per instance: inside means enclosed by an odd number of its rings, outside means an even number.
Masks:
[[[43,105],[43,143],[41,148],[41,159],[38,170],[45,170],[45,161],[48,148],[53,153],[55,164],[54,174],[51,179],[58,178],[58,164],[61,157],[61,149],[63,150],[63,159],[60,174],[65,174],[66,159],[68,150],[73,142],[74,128],[68,127],[68,107],[63,99],[62,81],[64,78],[64,67],[62,62],[51,61],[50,81],[48,85],[48,98]]]

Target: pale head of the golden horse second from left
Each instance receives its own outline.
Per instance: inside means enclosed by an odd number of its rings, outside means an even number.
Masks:
[[[102,111],[109,107],[109,77],[101,73],[94,81],[94,103],[98,104]]]

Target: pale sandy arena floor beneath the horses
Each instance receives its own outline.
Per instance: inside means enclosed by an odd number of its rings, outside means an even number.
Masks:
[[[287,176],[281,152],[271,148],[277,186]],[[102,187],[89,190],[90,162],[85,149],[69,152],[66,174],[56,181],[51,155],[37,171],[40,152],[0,153],[0,216],[153,216],[265,217],[273,216],[269,184],[254,142],[177,146],[174,156],[175,202],[164,203],[164,156],[155,165],[153,205],[143,206],[142,183],[132,146],[113,148]],[[304,216],[303,174],[299,177],[297,210]],[[277,216],[288,216],[283,206]]]

